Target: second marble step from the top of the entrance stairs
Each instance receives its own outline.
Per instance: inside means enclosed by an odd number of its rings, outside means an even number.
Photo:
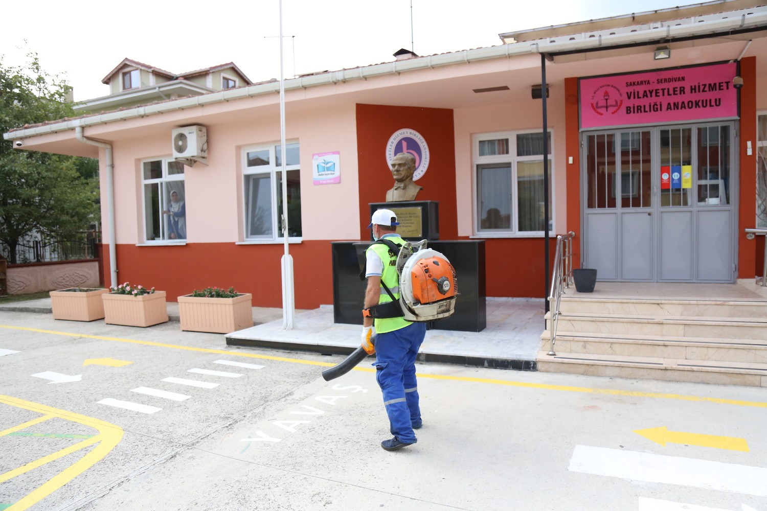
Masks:
[[[551,328],[551,315],[546,315]],[[640,336],[767,339],[767,317],[726,318],[695,316],[592,316],[560,313],[558,332],[633,334]]]

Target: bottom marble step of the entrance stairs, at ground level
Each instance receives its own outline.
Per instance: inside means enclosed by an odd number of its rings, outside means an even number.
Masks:
[[[767,364],[758,362],[691,361],[657,357],[538,352],[538,371],[668,382],[767,387]]]

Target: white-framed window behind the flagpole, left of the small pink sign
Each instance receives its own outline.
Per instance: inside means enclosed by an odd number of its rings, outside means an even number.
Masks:
[[[253,146],[242,152],[245,239],[273,241],[282,232],[281,146]],[[288,237],[301,237],[301,170],[298,142],[285,145],[288,180]]]

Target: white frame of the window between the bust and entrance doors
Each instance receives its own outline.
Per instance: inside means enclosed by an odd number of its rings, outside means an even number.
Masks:
[[[473,217],[473,232],[470,237],[544,237],[545,231],[519,231],[519,214],[518,214],[518,168],[519,162],[538,162],[543,160],[543,155],[534,156],[517,156],[517,136],[525,135],[527,133],[542,133],[542,129],[519,129],[515,131],[502,131],[493,133],[477,133],[472,136],[472,217]],[[549,221],[551,222],[551,229],[549,235],[553,235],[556,231],[555,226],[555,165],[554,165],[554,130],[548,129],[549,139],[551,140],[548,146],[548,165],[550,169],[551,179],[549,179],[549,187],[551,188],[551,201],[549,201]],[[479,156],[479,142],[495,139],[508,139],[509,140],[509,154],[504,155],[491,155],[491,156]],[[479,215],[479,183],[477,167],[479,165],[502,163],[508,164],[511,168],[512,179],[512,201],[511,201],[511,227],[508,229],[482,229],[482,218]]]

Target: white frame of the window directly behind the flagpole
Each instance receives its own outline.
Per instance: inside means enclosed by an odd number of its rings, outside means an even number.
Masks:
[[[287,140],[285,146],[298,145],[300,153],[301,146],[298,140]],[[282,211],[277,211],[278,197],[277,197],[277,184],[282,179],[282,167],[277,165],[278,155],[277,151],[280,146],[280,142],[272,142],[268,144],[258,144],[255,146],[247,146],[242,148],[242,229],[243,229],[243,241],[238,244],[276,244],[285,243],[285,237],[279,236],[280,218]],[[248,166],[248,153],[255,151],[268,151],[269,162],[267,165],[258,165],[254,167]],[[301,170],[301,163],[298,165],[285,165],[285,170]],[[249,186],[248,178],[251,175],[268,175],[270,181],[270,197],[272,200],[272,234],[262,234],[258,236],[249,236]],[[290,226],[288,225],[288,228]],[[303,234],[303,232],[302,232]],[[288,236],[288,243],[301,243],[302,236]]]

